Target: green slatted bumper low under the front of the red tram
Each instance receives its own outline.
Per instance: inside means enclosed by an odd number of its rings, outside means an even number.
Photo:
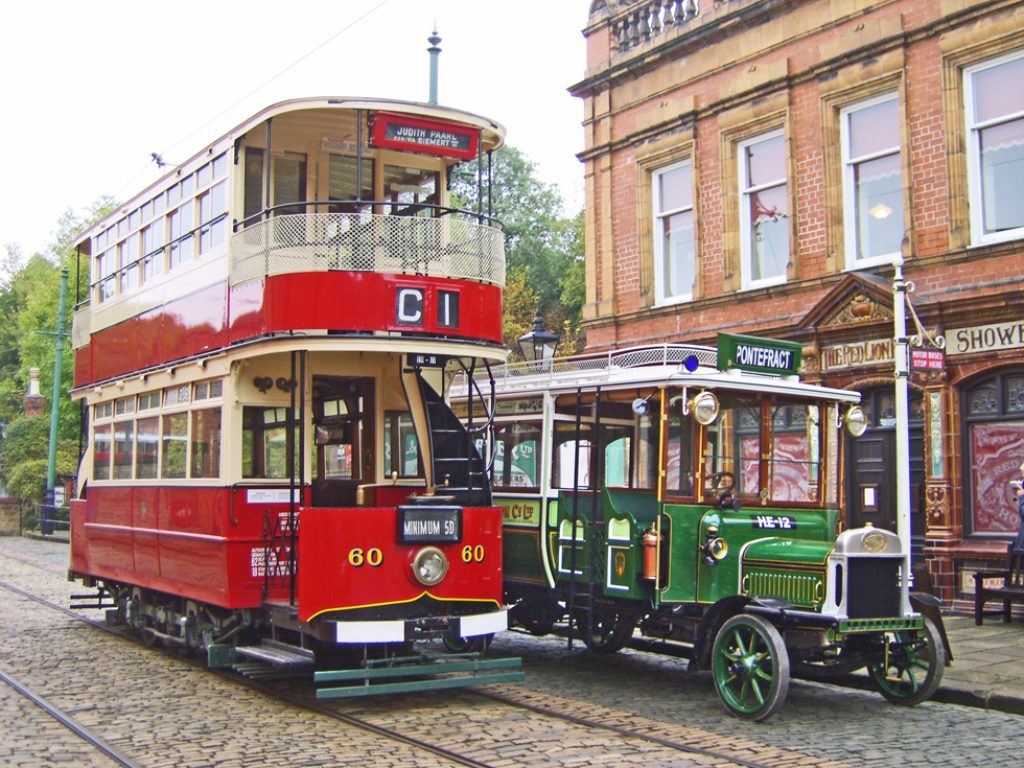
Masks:
[[[318,688],[316,698],[348,698],[492,683],[518,683],[525,677],[522,658],[518,656],[480,658],[479,655],[451,653],[443,656],[400,656],[368,660],[366,667],[357,670],[314,672],[313,682],[347,683],[333,688]],[[398,680],[395,682],[378,682],[396,678]]]

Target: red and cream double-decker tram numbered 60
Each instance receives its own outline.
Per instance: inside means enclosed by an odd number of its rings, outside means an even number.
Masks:
[[[112,620],[214,666],[356,649],[366,677],[507,628],[501,512],[444,398],[504,359],[503,138],[433,104],[286,101],[81,236],[71,572]]]

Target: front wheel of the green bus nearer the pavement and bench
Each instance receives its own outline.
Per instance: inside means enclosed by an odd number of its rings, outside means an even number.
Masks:
[[[879,693],[893,703],[912,707],[930,698],[942,681],[946,649],[928,618],[920,632],[887,632],[881,658],[867,672]]]

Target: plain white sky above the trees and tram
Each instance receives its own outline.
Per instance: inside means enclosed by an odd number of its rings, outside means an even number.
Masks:
[[[8,5],[0,33],[0,252],[8,244],[26,257],[42,252],[66,210],[84,216],[101,196],[122,201],[156,180],[150,153],[179,163],[275,101],[426,101],[426,39],[435,23],[439,103],[504,124],[508,143],[558,185],[574,213],[583,206],[583,106],[567,88],[586,68],[590,3]]]

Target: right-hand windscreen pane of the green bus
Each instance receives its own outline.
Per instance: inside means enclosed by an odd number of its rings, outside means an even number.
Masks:
[[[821,464],[816,406],[773,404],[768,463],[769,499],[815,502]]]

